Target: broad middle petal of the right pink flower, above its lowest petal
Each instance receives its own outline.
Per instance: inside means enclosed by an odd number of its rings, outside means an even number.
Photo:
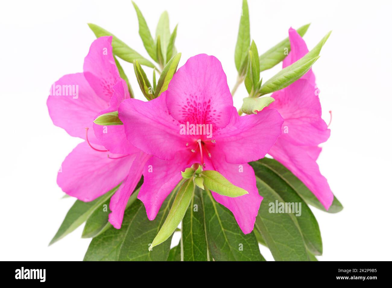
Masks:
[[[297,145],[318,145],[327,141],[330,130],[321,119],[321,105],[309,80],[299,79],[272,94],[268,109],[278,109],[285,122],[282,136]]]

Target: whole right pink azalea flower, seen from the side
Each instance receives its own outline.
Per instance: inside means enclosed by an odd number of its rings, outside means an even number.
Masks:
[[[289,30],[291,51],[283,60],[283,68],[308,53],[305,41],[294,29]],[[274,92],[275,101],[265,109],[278,109],[284,118],[282,134],[269,154],[297,176],[328,209],[334,196],[327,179],[316,163],[330,130],[321,119],[318,88],[312,70],[289,87]]]

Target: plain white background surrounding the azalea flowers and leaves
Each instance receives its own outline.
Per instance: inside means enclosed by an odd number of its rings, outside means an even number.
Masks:
[[[160,13],[179,23],[180,65],[199,53],[220,59],[230,88],[241,1],[137,0],[152,34]],[[323,118],[331,137],[318,163],[344,210],[313,209],[323,237],[319,260],[390,260],[391,239],[391,2],[249,0],[251,37],[263,53],[287,37],[290,26],[311,22],[312,48],[330,30],[315,63]],[[131,1],[4,1],[1,53],[1,260],[82,260],[89,239],[82,226],[48,247],[74,199],[61,199],[57,170],[81,139],[55,127],[47,112],[51,83],[82,72],[95,39],[87,23],[111,31],[148,58]],[[138,86],[130,63],[121,62]],[[146,68],[147,69],[147,68]],[[267,80],[278,65],[262,73]],[[235,95],[240,107],[242,85]],[[137,98],[141,98],[140,91]],[[176,238],[178,241],[178,237]],[[266,248],[267,260],[272,255]]]

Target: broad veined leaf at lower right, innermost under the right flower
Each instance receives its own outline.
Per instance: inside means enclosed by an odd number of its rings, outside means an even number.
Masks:
[[[284,202],[269,185],[256,176],[263,196],[254,227],[260,232],[275,261],[307,261],[305,241],[292,213],[270,213],[270,204]]]

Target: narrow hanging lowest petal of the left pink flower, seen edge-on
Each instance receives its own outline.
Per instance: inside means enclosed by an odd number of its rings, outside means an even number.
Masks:
[[[128,199],[138,184],[140,177],[142,177],[144,165],[150,157],[151,156],[141,151],[136,154],[136,158],[129,169],[127,179],[123,183],[122,187],[118,189],[110,199],[110,210],[112,212],[109,214],[109,222],[116,229],[121,228]]]

